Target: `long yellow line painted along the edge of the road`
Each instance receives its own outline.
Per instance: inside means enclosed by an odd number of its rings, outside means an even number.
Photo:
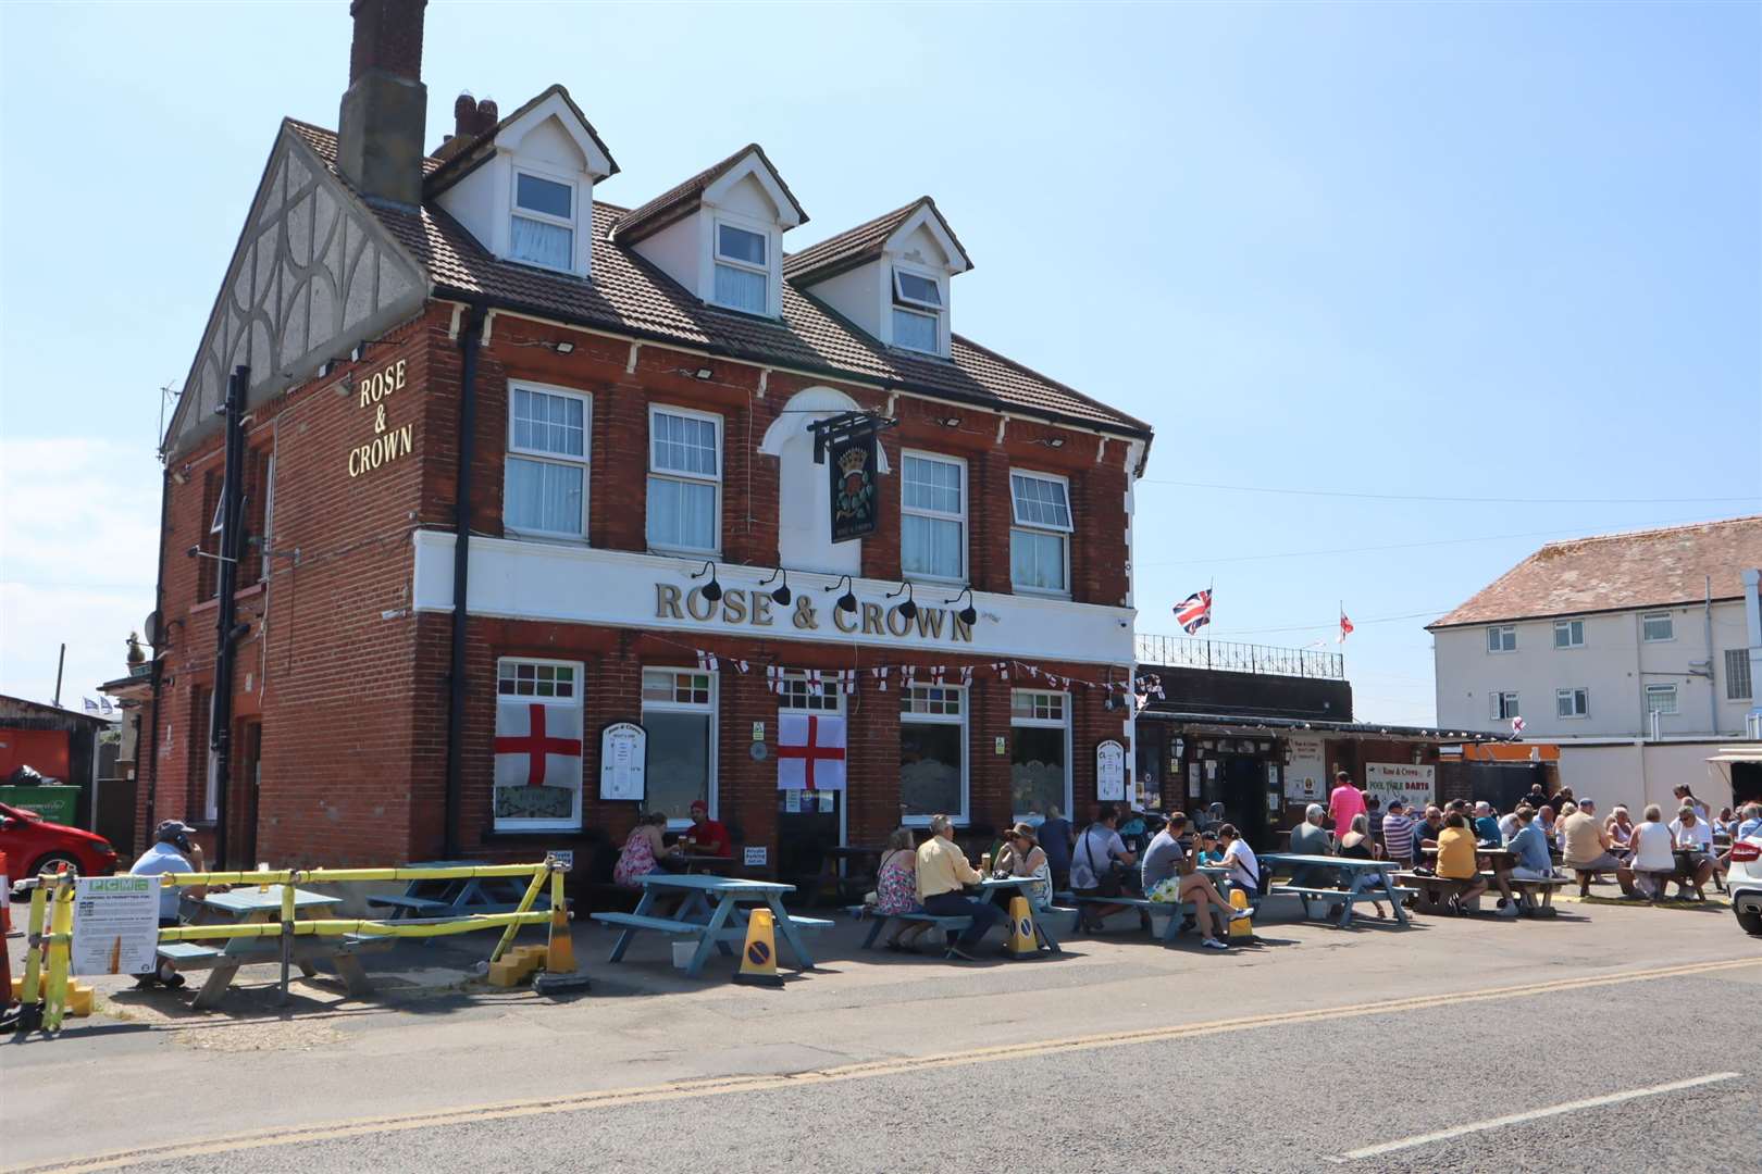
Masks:
[[[1586,987],[1619,986],[1626,982],[1649,982],[1655,979],[1674,979],[1683,975],[1718,973],[1744,966],[1762,966],[1762,958],[1734,958],[1713,963],[1684,963],[1679,966],[1658,966],[1653,970],[1623,970],[1607,975],[1588,975],[1582,979],[1556,979],[1552,982],[1531,982],[1524,986],[1491,987],[1482,991],[1459,991],[1450,994],[1420,994],[1413,998],[1392,998],[1376,1003],[1355,1003],[1346,1007],[1318,1007],[1311,1010],[1286,1010],[1267,1016],[1244,1016],[1239,1019],[1212,1019],[1207,1023],[1189,1023],[1168,1028],[1145,1028],[1138,1031],[1107,1031],[1101,1035],[1080,1035],[1062,1040],[1038,1040],[1031,1044],[1004,1044],[997,1047],[980,1047],[962,1053],[944,1053],[932,1056],[899,1056],[892,1060],[874,1060],[867,1063],[849,1063],[832,1068],[807,1072],[784,1072],[775,1075],[729,1075],[700,1077],[691,1081],[673,1081],[668,1084],[650,1084],[641,1088],[617,1088],[597,1093],[578,1093],[571,1097],[552,1097],[543,1100],[502,1102],[488,1105],[449,1107],[432,1112],[419,1112],[398,1118],[361,1118],[356,1121],[331,1121],[324,1125],[282,1126],[257,1130],[250,1134],[233,1134],[206,1141],[171,1142],[143,1149],[111,1151],[90,1158],[76,1158],[65,1163],[16,1165],[5,1167],[5,1174],[88,1174],[92,1170],[115,1170],[125,1165],[144,1162],[174,1162],[181,1158],[199,1158],[218,1153],[236,1153],[241,1149],[264,1149],[270,1146],[298,1146],[319,1141],[338,1141],[345,1137],[366,1137],[374,1134],[403,1134],[411,1130],[446,1128],[449,1125],[469,1125],[476,1121],[506,1121],[511,1118],[529,1118],[553,1112],[585,1112],[589,1109],[617,1109],[624,1105],[641,1105],[663,1100],[689,1100],[698,1097],[726,1097],[731,1093],[761,1093],[774,1088],[802,1088],[807,1084],[830,1084],[837,1081],[862,1081],[885,1075],[899,1075],[920,1068],[955,1068],[997,1060],[1027,1060],[1036,1056],[1054,1056],[1073,1051],[1092,1051],[1099,1047],[1126,1047],[1131,1044],[1158,1044],[1168,1040],[1186,1040],[1205,1035],[1225,1035],[1230,1031],[1251,1031],[1258,1028],[1276,1028],[1293,1023],[1323,1023],[1330,1019],[1353,1019],[1362,1016],[1387,1016],[1392,1012],[1427,1010],[1434,1007],[1455,1007],[1461,1003],[1478,1003],[1487,1000],[1521,998],[1526,994],[1554,994],[1559,991],[1582,991]]]

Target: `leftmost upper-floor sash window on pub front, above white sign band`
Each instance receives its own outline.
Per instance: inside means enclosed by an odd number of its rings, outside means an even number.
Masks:
[[[507,387],[502,525],[515,533],[587,537],[592,401],[532,384]]]

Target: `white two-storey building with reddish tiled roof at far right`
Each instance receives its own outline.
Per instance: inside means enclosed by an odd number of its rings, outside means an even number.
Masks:
[[[1551,542],[1427,625],[1438,725],[1521,716],[1605,803],[1700,789],[1720,741],[1757,736],[1757,567],[1762,517]]]

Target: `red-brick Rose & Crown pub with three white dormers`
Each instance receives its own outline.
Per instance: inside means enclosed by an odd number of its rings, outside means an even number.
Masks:
[[[929,197],[789,250],[758,144],[652,195],[562,86],[425,151],[423,7],[351,5],[164,437],[137,825],[603,869],[701,799],[788,873],[1117,794],[1151,428],[953,331]]]

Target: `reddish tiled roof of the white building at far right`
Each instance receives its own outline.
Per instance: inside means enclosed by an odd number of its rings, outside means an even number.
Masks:
[[[1762,516],[1549,542],[1431,628],[1695,604],[1743,593],[1762,567]]]

